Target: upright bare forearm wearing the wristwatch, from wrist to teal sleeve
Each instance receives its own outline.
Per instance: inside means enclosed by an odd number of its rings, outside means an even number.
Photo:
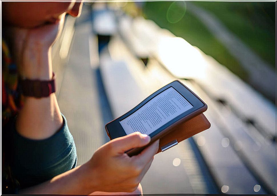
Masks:
[[[23,78],[50,80],[52,77],[51,50],[28,50],[21,62],[19,74]],[[17,117],[17,131],[31,139],[45,139],[62,126],[63,119],[55,93],[49,97],[26,97]]]

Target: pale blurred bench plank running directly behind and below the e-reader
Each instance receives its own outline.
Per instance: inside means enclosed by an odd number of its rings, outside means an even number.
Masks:
[[[100,70],[116,118],[137,105],[160,84],[155,78],[151,79],[151,75],[144,74],[143,62],[131,54],[119,36],[110,41],[108,49],[100,55]],[[178,161],[180,165],[174,166]],[[141,182],[144,194],[207,192],[200,170],[189,142],[181,142],[155,156]]]

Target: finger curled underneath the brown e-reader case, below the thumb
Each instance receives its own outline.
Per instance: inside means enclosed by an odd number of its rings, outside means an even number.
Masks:
[[[134,156],[138,164],[145,164],[149,162],[153,156],[158,152],[160,140],[155,141],[153,144],[145,148],[140,154]]]

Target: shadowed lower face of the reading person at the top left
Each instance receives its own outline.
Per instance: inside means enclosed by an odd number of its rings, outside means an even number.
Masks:
[[[77,17],[81,2],[2,2],[2,19],[5,25],[34,28],[57,23],[63,13]]]

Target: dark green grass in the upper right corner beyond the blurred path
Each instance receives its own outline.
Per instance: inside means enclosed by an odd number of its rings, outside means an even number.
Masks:
[[[274,2],[199,2],[275,69]]]

